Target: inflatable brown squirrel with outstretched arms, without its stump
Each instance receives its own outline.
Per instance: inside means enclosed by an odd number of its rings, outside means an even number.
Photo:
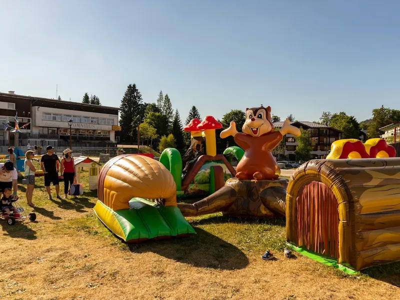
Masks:
[[[300,129],[290,125],[286,118],[282,128],[275,131],[271,122],[271,107],[246,108],[246,120],[241,128],[243,133],[236,130],[235,122],[231,121],[229,128],[223,130],[221,138],[229,135],[245,151],[237,164],[236,178],[239,180],[271,180],[280,175],[280,168],[271,151],[282,140],[286,133],[300,135]]]

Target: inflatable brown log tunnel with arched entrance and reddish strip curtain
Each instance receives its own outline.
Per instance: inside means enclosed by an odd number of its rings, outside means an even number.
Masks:
[[[287,187],[286,238],[356,270],[400,260],[400,158],[301,165]]]

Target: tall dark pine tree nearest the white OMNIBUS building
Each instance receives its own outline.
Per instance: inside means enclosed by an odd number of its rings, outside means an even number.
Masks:
[[[138,116],[143,116],[143,99],[141,93],[136,87],[136,84],[129,84],[126,88],[125,94],[122,97],[120,105],[120,119],[119,125],[121,126],[120,137],[123,141],[137,141],[137,129],[132,128],[132,123],[138,123]],[[140,114],[140,115],[139,115]]]

